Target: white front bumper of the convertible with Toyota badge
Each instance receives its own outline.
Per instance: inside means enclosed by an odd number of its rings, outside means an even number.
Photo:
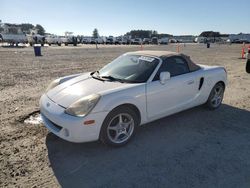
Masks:
[[[90,142],[99,139],[102,123],[108,112],[90,113],[86,117],[74,117],[50,100],[46,94],[40,99],[40,112],[44,125],[58,137],[70,142]],[[85,121],[95,120],[91,125]]]

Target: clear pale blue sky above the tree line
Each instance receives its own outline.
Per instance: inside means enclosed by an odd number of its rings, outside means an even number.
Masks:
[[[249,0],[0,0],[3,23],[41,24],[46,32],[118,36],[133,29],[173,35],[250,33]]]

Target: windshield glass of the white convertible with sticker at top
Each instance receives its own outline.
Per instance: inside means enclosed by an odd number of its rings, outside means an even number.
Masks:
[[[149,79],[158,63],[159,59],[154,57],[122,55],[92,76],[111,81],[143,83]]]

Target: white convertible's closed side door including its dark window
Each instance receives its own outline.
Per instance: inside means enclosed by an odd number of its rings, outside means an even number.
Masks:
[[[170,79],[161,84],[161,72],[170,72]],[[162,62],[152,82],[147,83],[147,115],[157,119],[186,109],[198,93],[199,78],[189,71],[188,64],[182,57],[170,57]]]

